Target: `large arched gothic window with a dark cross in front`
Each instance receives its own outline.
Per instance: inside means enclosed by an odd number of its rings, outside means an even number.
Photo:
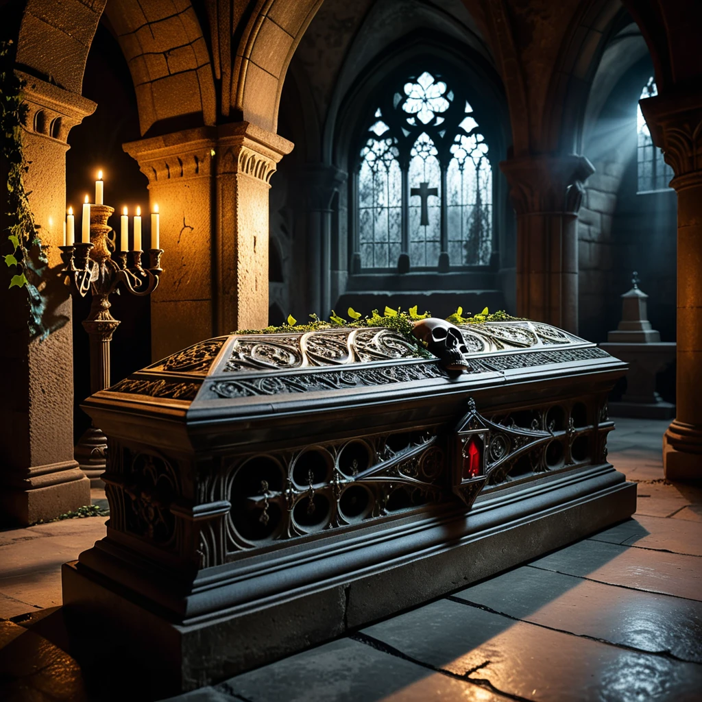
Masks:
[[[386,91],[357,167],[360,267],[489,265],[492,166],[466,96],[423,71]]]

